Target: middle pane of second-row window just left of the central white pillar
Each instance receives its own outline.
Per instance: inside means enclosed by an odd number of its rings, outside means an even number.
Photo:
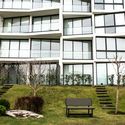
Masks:
[[[42,31],[49,31],[50,30],[50,17],[43,17],[42,18]]]

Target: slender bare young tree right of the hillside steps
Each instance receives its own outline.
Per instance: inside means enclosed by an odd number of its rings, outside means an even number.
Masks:
[[[122,63],[122,57],[114,57],[113,61],[111,61],[113,68],[115,70],[115,74],[117,77],[117,89],[116,89],[116,100],[115,100],[115,114],[118,113],[118,107],[119,107],[119,88],[120,88],[120,82],[122,79],[122,75],[124,74],[124,68],[125,65]]]

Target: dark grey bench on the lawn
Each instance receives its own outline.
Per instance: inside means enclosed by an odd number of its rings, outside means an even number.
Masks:
[[[93,117],[92,99],[91,98],[66,98],[66,116],[72,115],[70,110],[87,110],[87,115]]]

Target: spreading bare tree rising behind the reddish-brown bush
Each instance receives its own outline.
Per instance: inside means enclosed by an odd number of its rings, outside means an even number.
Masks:
[[[27,69],[29,69],[29,74],[23,74],[23,67],[19,69],[19,75],[22,77],[22,81],[28,85],[31,90],[33,96],[37,95],[37,92],[41,89],[41,86],[45,83],[45,71],[46,65],[41,66],[41,62],[32,62],[32,66],[29,63],[25,63],[27,65]],[[46,64],[44,62],[44,64]]]

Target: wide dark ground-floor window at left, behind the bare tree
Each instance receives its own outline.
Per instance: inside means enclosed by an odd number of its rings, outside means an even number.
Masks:
[[[27,83],[32,75],[39,75],[39,82],[43,85],[59,84],[59,66],[56,63],[0,64],[0,84]]]

